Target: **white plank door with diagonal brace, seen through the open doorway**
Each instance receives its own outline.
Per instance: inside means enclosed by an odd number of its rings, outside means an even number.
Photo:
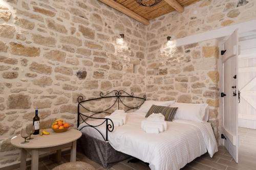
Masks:
[[[256,129],[256,38],[239,42],[239,89],[241,102],[238,108],[238,125]]]

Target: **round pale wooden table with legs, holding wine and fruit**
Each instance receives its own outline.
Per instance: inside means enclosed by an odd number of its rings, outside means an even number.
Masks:
[[[38,159],[40,154],[57,150],[57,161],[60,161],[61,149],[71,148],[70,161],[76,161],[76,140],[82,133],[76,129],[68,129],[63,133],[55,133],[52,129],[47,129],[50,135],[32,135],[34,139],[28,140],[29,143],[20,144],[24,138],[20,135],[14,136],[11,143],[21,149],[20,169],[26,169],[27,152],[32,155],[31,169],[38,169]]]

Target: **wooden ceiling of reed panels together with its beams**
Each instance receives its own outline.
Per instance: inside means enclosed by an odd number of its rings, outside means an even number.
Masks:
[[[157,18],[175,10],[182,13],[184,12],[184,7],[201,0],[162,0],[159,4],[153,7],[140,6],[135,0],[99,1],[138,20],[144,25],[150,25],[149,20],[151,19]]]

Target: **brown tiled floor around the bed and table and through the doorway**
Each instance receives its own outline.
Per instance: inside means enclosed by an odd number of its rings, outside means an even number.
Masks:
[[[195,159],[193,162],[188,163],[182,170],[253,170],[256,169],[256,130],[239,128],[239,163],[233,161],[229,153],[224,147],[219,147],[219,152],[210,158],[208,154]],[[68,162],[70,155],[63,155],[61,162],[55,163],[51,158],[42,160],[39,163],[39,170],[52,169],[53,167]],[[103,170],[101,165],[88,159],[84,155],[77,153],[77,161],[90,163],[96,169]],[[28,166],[27,169],[30,169]],[[114,165],[112,170],[145,170],[150,169],[142,162],[127,163],[127,160]],[[172,170],[172,169],[169,169]]]

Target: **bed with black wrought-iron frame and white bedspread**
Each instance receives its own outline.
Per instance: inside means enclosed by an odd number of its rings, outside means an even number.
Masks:
[[[122,98],[134,97],[133,93],[130,95],[125,92],[128,95],[122,95],[122,92],[114,91],[117,94],[113,96],[117,98],[117,109],[119,109],[119,99],[123,104]],[[106,96],[109,95],[101,94],[101,98]],[[141,99],[145,101],[146,97],[143,96]],[[135,107],[127,105],[126,107],[130,111],[139,108],[143,103],[142,101]],[[102,112],[97,111],[93,116],[98,113]],[[83,134],[79,140],[80,147],[84,153],[93,148],[90,151],[93,153],[87,153],[89,158],[106,168],[133,156],[149,163],[150,168],[156,170],[180,169],[207,151],[210,156],[218,151],[210,123],[176,119],[174,122],[167,122],[167,131],[148,134],[141,129],[141,121],[145,119],[145,114],[144,112],[127,113],[126,124],[116,128],[111,119],[92,118],[92,116],[86,116],[88,119],[82,118],[83,121],[78,125],[78,129]],[[83,116],[79,108],[78,116],[80,118]]]

